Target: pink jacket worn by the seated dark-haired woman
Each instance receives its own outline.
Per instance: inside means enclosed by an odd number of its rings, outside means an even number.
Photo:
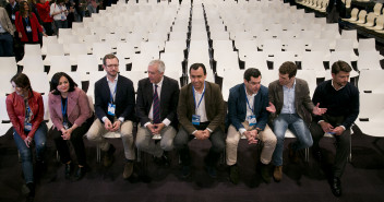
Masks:
[[[50,119],[52,120],[55,128],[60,130],[63,127],[61,95],[53,95],[50,93],[48,96],[48,107]],[[91,118],[92,112],[88,97],[83,90],[74,87],[73,92],[69,92],[67,97],[67,116],[72,124],[76,123],[79,127],[81,127],[86,119]]]

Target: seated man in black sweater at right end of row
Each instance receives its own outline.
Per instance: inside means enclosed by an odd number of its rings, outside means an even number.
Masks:
[[[314,91],[312,102],[327,108],[323,116],[313,117],[311,133],[313,152],[321,158],[319,142],[324,133],[335,136],[336,157],[331,180],[332,193],[341,195],[340,177],[350,152],[350,127],[359,115],[359,91],[348,82],[352,69],[345,61],[336,61],[332,66],[332,80],[320,84]]]

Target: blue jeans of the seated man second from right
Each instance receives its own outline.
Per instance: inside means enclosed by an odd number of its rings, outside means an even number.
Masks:
[[[313,140],[305,122],[297,114],[280,114],[273,122],[274,133],[277,138],[276,148],[273,155],[275,166],[283,165],[284,138],[289,129],[297,138],[292,145],[293,150],[301,150],[312,146]]]

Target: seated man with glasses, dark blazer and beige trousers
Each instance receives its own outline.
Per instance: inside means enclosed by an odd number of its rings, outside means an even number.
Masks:
[[[105,152],[104,166],[112,164],[115,146],[109,144],[104,134],[115,132],[122,139],[125,155],[123,178],[128,179],[133,171],[135,158],[133,147],[132,121],[134,120],[134,90],[131,80],[119,75],[119,59],[113,55],[106,55],[103,68],[107,72],[95,83],[95,112],[97,119],[87,132],[91,141],[98,143]]]

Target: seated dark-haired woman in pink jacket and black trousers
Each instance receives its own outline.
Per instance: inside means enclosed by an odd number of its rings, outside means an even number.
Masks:
[[[65,164],[65,179],[69,179],[73,163],[65,141],[71,140],[79,163],[74,177],[75,180],[80,180],[87,170],[83,135],[94,121],[88,97],[64,72],[56,73],[50,85],[48,106],[50,119],[53,122],[52,136],[56,147],[61,163]]]

